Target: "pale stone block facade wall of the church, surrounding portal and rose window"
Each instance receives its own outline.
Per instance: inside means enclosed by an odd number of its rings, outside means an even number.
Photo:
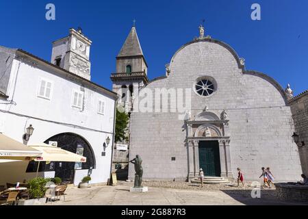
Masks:
[[[243,72],[232,49],[214,40],[186,44],[172,57],[170,70],[167,78],[146,86],[153,96],[155,88],[185,90],[192,89],[199,77],[216,80],[217,90],[211,96],[202,97],[192,90],[191,114],[193,119],[205,106],[218,116],[226,110],[234,176],[240,167],[246,179],[259,179],[261,167],[270,166],[277,180],[299,180],[300,159],[291,138],[292,114],[274,80]],[[178,112],[131,114],[130,158],[141,155],[144,179],[186,179],[190,161],[185,138],[185,122]],[[133,178],[133,166],[129,177]]]

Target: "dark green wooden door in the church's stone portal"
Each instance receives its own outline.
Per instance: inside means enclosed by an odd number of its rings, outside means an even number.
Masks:
[[[199,166],[205,176],[220,177],[220,155],[218,141],[199,142]]]

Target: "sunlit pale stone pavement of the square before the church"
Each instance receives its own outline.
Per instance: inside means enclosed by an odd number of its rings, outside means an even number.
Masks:
[[[186,182],[145,181],[146,193],[131,193],[133,183],[119,181],[116,186],[88,189],[68,188],[66,201],[47,205],[292,205],[277,199],[276,190],[261,189],[261,198],[252,198],[253,188],[230,185],[194,185]]]

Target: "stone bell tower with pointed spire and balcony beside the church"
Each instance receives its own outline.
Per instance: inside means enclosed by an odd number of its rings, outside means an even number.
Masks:
[[[116,56],[116,73],[112,73],[112,90],[118,93],[125,112],[133,110],[133,94],[143,88],[149,79],[148,65],[144,58],[135,24]]]

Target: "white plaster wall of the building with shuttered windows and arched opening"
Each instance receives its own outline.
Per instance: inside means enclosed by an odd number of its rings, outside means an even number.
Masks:
[[[48,67],[34,67],[17,60],[13,66],[8,96],[16,105],[5,105],[4,108],[9,113],[0,112],[0,118],[5,119],[2,125],[3,134],[23,142],[23,134],[31,124],[34,134],[28,144],[35,144],[59,133],[75,133],[88,141],[94,152],[96,168],[92,170],[91,183],[106,182],[110,178],[112,158],[114,100],[107,94],[85,88],[80,82],[60,77]],[[41,77],[53,81],[50,101],[37,96]],[[83,110],[71,106],[73,89],[85,92]],[[105,101],[104,115],[97,113],[99,99]],[[103,142],[107,136],[111,143],[105,151],[106,156],[102,157]],[[0,165],[0,175],[1,171],[4,169]],[[75,177],[84,177],[83,172],[78,171]]]

